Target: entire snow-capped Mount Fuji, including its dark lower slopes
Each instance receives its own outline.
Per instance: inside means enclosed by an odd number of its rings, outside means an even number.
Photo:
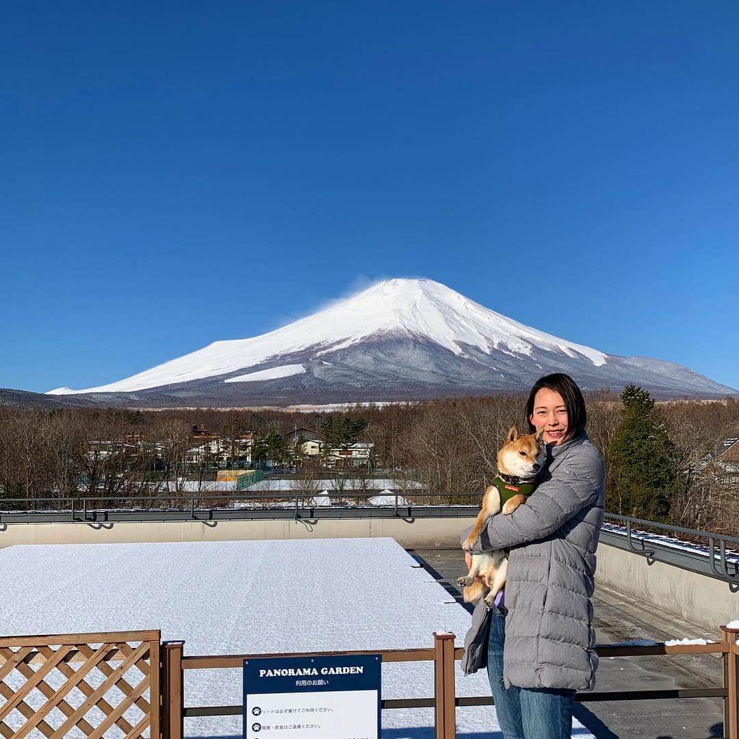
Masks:
[[[117,405],[286,406],[524,390],[549,372],[567,372],[582,389],[637,384],[663,398],[737,392],[679,364],[556,338],[439,282],[388,279],[262,336],[47,394]]]

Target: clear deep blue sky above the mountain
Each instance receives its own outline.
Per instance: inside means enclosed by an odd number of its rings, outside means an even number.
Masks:
[[[426,276],[739,388],[739,5],[14,4],[0,386]]]

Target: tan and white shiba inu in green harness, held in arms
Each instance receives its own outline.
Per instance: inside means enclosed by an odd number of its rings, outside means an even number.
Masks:
[[[519,434],[516,426],[511,426],[498,452],[498,476],[485,491],[480,513],[463,544],[464,550],[474,546],[491,516],[513,513],[534,492],[534,479],[546,456],[543,435],[543,430],[537,434]],[[485,605],[493,607],[495,596],[505,585],[507,567],[508,554],[503,550],[473,554],[469,573],[457,580],[457,585],[464,588],[465,601],[477,602],[484,596]],[[483,579],[484,584],[477,576]]]

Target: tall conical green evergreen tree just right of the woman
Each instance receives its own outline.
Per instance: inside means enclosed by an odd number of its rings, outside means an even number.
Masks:
[[[624,416],[606,455],[606,507],[624,516],[664,521],[678,479],[675,447],[649,392],[628,385],[621,403]]]

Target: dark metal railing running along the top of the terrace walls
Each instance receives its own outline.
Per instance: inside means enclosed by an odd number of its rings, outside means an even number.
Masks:
[[[388,503],[369,503],[380,494]],[[330,505],[316,504],[327,498]],[[264,491],[245,494],[159,494],[0,498],[0,534],[13,523],[218,522],[248,520],[319,520],[474,517],[483,494],[431,495],[418,491]],[[676,536],[675,536],[676,535]],[[679,537],[683,537],[682,539]],[[609,546],[722,580],[739,591],[739,537],[713,534],[644,519],[605,514],[600,534]]]

